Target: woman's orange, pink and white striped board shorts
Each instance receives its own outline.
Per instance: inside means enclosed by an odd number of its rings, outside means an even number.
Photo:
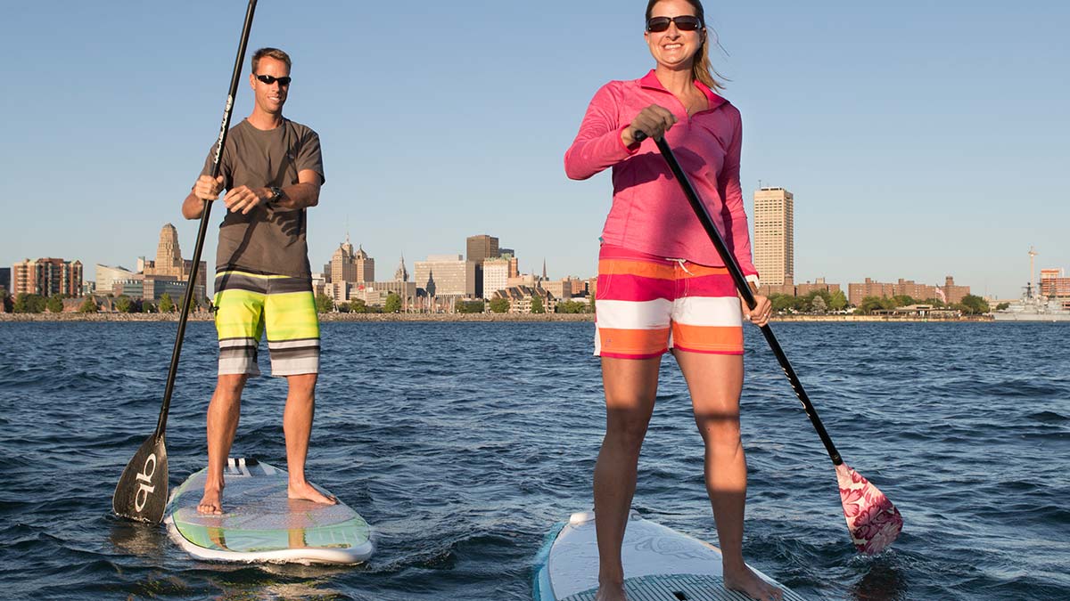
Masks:
[[[595,355],[646,359],[669,349],[743,354],[743,309],[729,271],[603,244]]]

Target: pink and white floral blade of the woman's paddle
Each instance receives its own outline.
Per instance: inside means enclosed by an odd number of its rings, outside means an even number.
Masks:
[[[896,506],[861,474],[845,463],[836,466],[843,517],[858,551],[874,555],[890,545],[903,529]]]

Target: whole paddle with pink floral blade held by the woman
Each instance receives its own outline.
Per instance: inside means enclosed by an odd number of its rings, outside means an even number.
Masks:
[[[646,137],[646,134],[643,132],[636,132],[635,138],[637,142],[643,141]],[[669,148],[669,143],[666,142],[664,137],[654,142],[657,144],[658,150],[661,151],[661,156],[669,164],[669,169],[676,176],[676,181],[679,182],[679,187],[684,190],[684,196],[691,203],[691,209],[694,210],[694,214],[699,217],[699,221],[702,222],[702,227],[706,230],[706,234],[709,235],[709,240],[717,247],[717,253],[720,255],[721,261],[724,262],[724,266],[732,274],[732,280],[735,282],[739,295],[743,296],[747,306],[753,309],[756,304],[754,295],[751,293],[750,287],[747,286],[747,279],[743,275],[743,269],[739,268],[739,263],[729,252],[728,246],[724,244],[724,238],[721,237],[721,233],[714,226],[709,211],[699,199],[699,195],[694,191],[691,181],[684,173],[684,170],[681,169],[679,163],[676,161],[676,156],[673,154],[672,149]],[[847,521],[847,529],[851,531],[852,541],[858,551],[862,553],[874,554],[881,552],[891,544],[903,529],[903,518],[884,493],[877,490],[876,487],[860,474],[852,469],[851,466],[843,463],[839,451],[832,445],[832,440],[828,436],[828,432],[825,431],[825,426],[817,417],[817,411],[810,403],[810,398],[802,388],[802,383],[799,382],[795,370],[792,369],[792,364],[788,361],[788,356],[784,355],[780,343],[777,342],[777,338],[773,335],[773,329],[768,324],[763,325],[761,329],[766,342],[769,343],[769,348],[773,350],[773,354],[780,361],[780,367],[783,368],[784,375],[792,383],[795,396],[802,402],[802,407],[806,410],[810,422],[813,423],[814,430],[821,436],[821,442],[824,443],[825,450],[828,451],[828,457],[832,460],[832,465],[836,466],[836,478],[840,488],[840,500],[843,504],[843,517]]]

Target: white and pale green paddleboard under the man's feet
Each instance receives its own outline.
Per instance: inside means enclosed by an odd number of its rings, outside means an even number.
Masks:
[[[371,556],[371,528],[346,504],[287,497],[285,471],[256,460],[229,459],[221,515],[197,512],[207,469],[171,494],[165,522],[171,538],[199,559],[301,564],[360,564]],[[325,490],[317,487],[323,494]]]

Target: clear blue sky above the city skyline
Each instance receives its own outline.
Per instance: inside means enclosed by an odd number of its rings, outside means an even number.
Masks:
[[[816,4],[816,5],[811,5]],[[1070,3],[706,2],[743,111],[743,184],[795,195],[796,280],[945,275],[1013,297],[1070,271]],[[610,79],[653,65],[645,2],[261,0],[249,47],[294,60],[286,114],[317,129],[314,268],[348,232],[401,253],[489,233],[521,269],[592,276],[608,173],[562,156]],[[3,2],[0,264],[134,266],[179,207],[223,112],[245,3]],[[246,61],[247,62],[247,61]],[[245,73],[248,73],[246,64]],[[251,94],[240,88],[236,120]],[[221,205],[214,210],[221,218]],[[205,258],[214,263],[215,227]]]

